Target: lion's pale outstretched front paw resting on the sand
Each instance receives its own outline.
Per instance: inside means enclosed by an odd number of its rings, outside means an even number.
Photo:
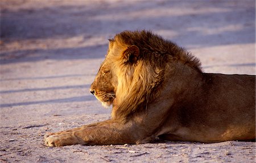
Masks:
[[[85,144],[85,142],[72,132],[63,132],[63,134],[47,133],[44,135],[44,144],[48,147],[61,147],[64,145]]]

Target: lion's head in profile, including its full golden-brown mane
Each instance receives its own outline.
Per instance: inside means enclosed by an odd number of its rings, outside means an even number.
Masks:
[[[171,41],[148,31],[121,32],[109,40],[90,92],[104,106],[114,101],[113,116],[147,108],[157,98],[166,67],[177,60],[200,71],[200,62]]]

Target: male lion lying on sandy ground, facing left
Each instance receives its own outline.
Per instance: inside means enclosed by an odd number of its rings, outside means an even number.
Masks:
[[[150,31],[109,40],[90,92],[113,105],[111,118],[48,133],[47,146],[255,139],[255,76],[204,73],[199,59]]]

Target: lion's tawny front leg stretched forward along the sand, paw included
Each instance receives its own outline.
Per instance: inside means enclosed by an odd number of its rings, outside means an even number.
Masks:
[[[104,121],[90,127],[80,127],[77,130],[49,135],[44,142],[49,147],[72,144],[109,145],[150,142],[151,138],[145,138],[140,131],[139,128],[134,128],[131,123],[123,124],[122,122]]]

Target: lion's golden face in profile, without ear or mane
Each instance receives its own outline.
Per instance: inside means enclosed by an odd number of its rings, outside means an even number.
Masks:
[[[101,101],[102,105],[108,107],[113,104],[118,80],[114,73],[113,63],[110,59],[112,46],[109,45],[105,61],[101,63],[100,70],[94,79],[90,92]]]

